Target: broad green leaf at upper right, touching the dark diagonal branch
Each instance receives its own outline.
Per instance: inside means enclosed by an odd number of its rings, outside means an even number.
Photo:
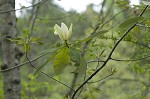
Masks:
[[[142,17],[133,17],[133,18],[128,18],[124,22],[122,22],[119,27],[120,28],[128,28],[132,25],[134,25],[136,22],[138,22]]]

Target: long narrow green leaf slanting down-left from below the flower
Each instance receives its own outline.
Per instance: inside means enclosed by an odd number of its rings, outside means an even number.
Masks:
[[[56,54],[57,54],[57,51],[55,51],[55,52],[47,59],[47,61],[46,61],[44,64],[42,64],[41,66],[39,66],[39,67],[36,69],[36,71],[34,72],[34,75],[37,75],[37,74],[40,72],[40,70],[41,70],[44,66],[46,66],[46,64],[48,64],[48,63],[56,56]]]

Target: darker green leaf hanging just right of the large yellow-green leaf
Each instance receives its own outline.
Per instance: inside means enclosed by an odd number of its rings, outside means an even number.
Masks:
[[[69,48],[69,56],[70,60],[76,64],[76,66],[80,65],[80,53],[74,47]]]

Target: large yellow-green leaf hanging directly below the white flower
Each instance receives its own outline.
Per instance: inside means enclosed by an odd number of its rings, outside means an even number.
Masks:
[[[68,47],[64,47],[57,53],[53,62],[53,68],[56,74],[62,73],[63,69],[70,62],[70,57],[68,55]]]

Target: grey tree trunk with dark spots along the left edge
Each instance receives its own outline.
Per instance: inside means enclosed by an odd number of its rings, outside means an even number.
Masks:
[[[15,0],[0,0],[0,12],[14,10]],[[15,11],[0,13],[0,31],[2,33],[2,57],[1,69],[14,67],[19,63],[22,53],[8,38],[16,38],[16,15]],[[20,99],[20,73],[19,68],[3,72],[4,76],[4,99]]]

